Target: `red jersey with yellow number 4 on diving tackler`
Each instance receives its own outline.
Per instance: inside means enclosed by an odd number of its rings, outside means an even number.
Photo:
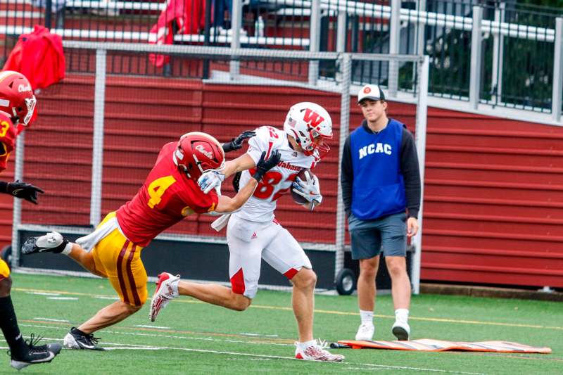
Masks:
[[[176,146],[177,142],[164,145],[137,195],[117,211],[123,234],[138,246],[147,246],[193,212],[215,210],[219,202],[215,191],[203,193],[197,182],[180,172],[172,160]]]

